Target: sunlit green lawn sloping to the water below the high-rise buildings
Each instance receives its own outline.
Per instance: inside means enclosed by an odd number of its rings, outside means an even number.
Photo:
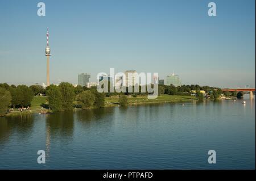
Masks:
[[[182,95],[160,95],[156,99],[147,99],[147,96],[137,96],[133,98],[128,96],[128,104],[136,103],[158,103],[158,102],[185,102],[189,100],[196,99],[195,96],[182,96]],[[108,103],[118,103],[118,96],[111,96],[110,98],[105,98],[106,104]]]

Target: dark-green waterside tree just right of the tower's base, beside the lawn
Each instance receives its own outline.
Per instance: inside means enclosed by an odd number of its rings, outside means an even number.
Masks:
[[[46,91],[47,99],[49,102],[49,107],[53,112],[62,110],[61,92],[58,86],[51,85],[48,86]]]

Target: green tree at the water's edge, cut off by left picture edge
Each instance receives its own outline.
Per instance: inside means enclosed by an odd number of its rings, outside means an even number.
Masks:
[[[0,116],[7,112],[11,105],[11,93],[0,87]]]

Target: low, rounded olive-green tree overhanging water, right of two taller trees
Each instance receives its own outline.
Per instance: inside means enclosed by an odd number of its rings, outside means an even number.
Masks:
[[[90,90],[81,92],[76,96],[77,104],[82,107],[82,109],[90,108],[95,102],[95,96]]]

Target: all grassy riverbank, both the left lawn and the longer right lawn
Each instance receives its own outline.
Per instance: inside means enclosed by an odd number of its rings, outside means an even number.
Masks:
[[[164,95],[158,96],[158,98],[156,99],[147,99],[147,96],[137,96],[137,98],[134,98],[133,96],[128,96],[129,105],[148,104],[148,103],[180,103],[180,102],[188,102],[191,100],[196,100],[195,96],[164,94]],[[20,112],[18,111],[18,109],[15,109],[13,112],[7,113],[6,116],[41,112],[41,107],[43,104],[45,105],[48,104],[46,96],[34,96],[34,99],[31,102],[30,110]],[[117,105],[118,105],[118,96],[111,96],[111,97],[105,98],[105,107],[111,107],[111,106],[117,106]]]

